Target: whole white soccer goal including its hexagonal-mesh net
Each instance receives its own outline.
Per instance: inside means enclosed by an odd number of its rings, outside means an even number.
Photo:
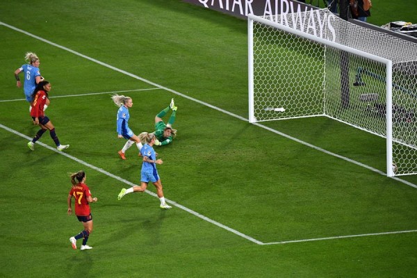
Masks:
[[[248,17],[249,120],[325,116],[386,138],[386,174],[417,174],[417,44],[327,9]]]

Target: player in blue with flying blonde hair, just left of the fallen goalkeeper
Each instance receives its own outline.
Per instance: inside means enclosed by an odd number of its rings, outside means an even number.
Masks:
[[[136,143],[136,147],[138,147],[139,151],[142,148],[142,143],[140,142],[138,136],[136,136],[131,129],[129,129],[129,108],[133,106],[133,101],[131,97],[125,97],[124,95],[113,95],[111,97],[113,102],[116,106],[119,107],[117,111],[117,138],[125,138],[127,139],[126,144],[124,147],[118,152],[120,158],[123,160],[126,159],[124,153],[126,152],[133,143]]]

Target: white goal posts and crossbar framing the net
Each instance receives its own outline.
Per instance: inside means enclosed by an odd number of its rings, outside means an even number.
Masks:
[[[354,49],[352,47],[347,47],[346,45],[339,44],[337,42],[333,42],[331,40],[326,40],[324,38],[320,38],[316,35],[311,35],[309,33],[305,33],[302,31],[299,31],[295,28],[291,28],[282,24],[279,24],[277,22],[274,22],[272,20],[265,19],[263,17],[258,17],[255,15],[248,15],[248,82],[249,82],[249,122],[261,122],[262,120],[259,120],[256,118],[255,111],[254,111],[254,94],[255,94],[255,88],[254,88],[254,22],[259,22],[261,24],[264,24],[265,26],[270,26],[273,28],[277,28],[281,31],[284,31],[286,33],[291,33],[293,35],[296,35],[301,38],[305,38],[307,40],[311,40],[312,42],[318,42],[319,44],[324,44],[325,46],[333,47],[334,49],[339,49],[341,51],[345,51],[350,54],[354,54],[357,56],[361,56],[363,58],[367,58],[369,60],[373,60],[377,63],[384,64],[386,67],[386,76],[385,77],[385,86],[386,86],[386,136],[383,136],[386,138],[386,175],[388,177],[393,177],[395,175],[393,170],[393,92],[392,92],[392,74],[393,74],[393,62],[392,60],[382,58],[380,56],[375,56],[373,54],[369,54],[365,51],[361,51],[359,49]],[[274,109],[274,108],[272,108]],[[278,109],[281,108],[275,108]],[[359,126],[355,126],[350,124],[349,122],[345,122],[343,120],[336,119],[334,117],[331,117],[329,115],[326,115],[325,111],[323,110],[323,113],[320,115],[304,115],[303,117],[313,117],[313,116],[325,116],[330,117],[334,120],[337,120],[339,122],[343,122],[345,124],[349,124],[351,126],[354,126],[357,129],[362,129]],[[295,117],[285,117],[285,119],[290,119]],[[284,118],[283,118],[284,119]],[[273,120],[281,120],[281,119],[273,119]],[[369,131],[367,129],[362,129],[364,131],[373,133],[372,131]],[[374,133],[377,136],[381,136],[380,134]]]

